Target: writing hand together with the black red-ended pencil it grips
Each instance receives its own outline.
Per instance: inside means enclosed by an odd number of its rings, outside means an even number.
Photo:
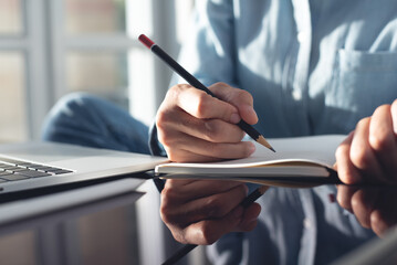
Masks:
[[[189,83],[168,91],[156,117],[158,138],[170,160],[203,162],[249,157],[254,145],[241,141],[244,132],[273,150],[251,126],[258,117],[248,92],[224,83],[206,87],[152,40],[145,35],[139,40]]]

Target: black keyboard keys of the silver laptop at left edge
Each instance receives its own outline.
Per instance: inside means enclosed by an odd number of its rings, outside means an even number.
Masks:
[[[0,158],[0,182],[59,176],[71,172],[73,171],[45,165]]]

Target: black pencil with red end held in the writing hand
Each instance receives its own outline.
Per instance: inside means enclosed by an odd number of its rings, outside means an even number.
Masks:
[[[148,49],[152,50],[154,54],[156,54],[159,59],[161,59],[169,67],[171,67],[176,73],[178,73],[182,78],[185,78],[191,86],[206,92],[207,94],[218,98],[213,93],[208,89],[201,82],[199,82],[195,76],[192,76],[189,72],[187,72],[180,64],[178,64],[171,56],[169,56],[161,47],[155,44],[145,34],[140,34],[138,40]],[[267,139],[258,132],[251,125],[247,124],[244,120],[240,120],[237,126],[239,126],[243,131],[247,132],[253,140],[261,144],[262,146],[269,148],[273,152],[275,150],[273,147],[267,141]]]

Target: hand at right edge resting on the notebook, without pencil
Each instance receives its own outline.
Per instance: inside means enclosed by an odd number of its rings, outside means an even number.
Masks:
[[[397,138],[394,116],[397,102],[378,107],[372,117],[357,124],[354,134],[336,151],[341,180],[352,184],[359,181],[397,181]]]

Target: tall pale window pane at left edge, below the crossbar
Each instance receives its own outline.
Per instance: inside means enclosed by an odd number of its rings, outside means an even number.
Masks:
[[[0,53],[0,141],[28,137],[24,95],[24,59],[18,52]]]

